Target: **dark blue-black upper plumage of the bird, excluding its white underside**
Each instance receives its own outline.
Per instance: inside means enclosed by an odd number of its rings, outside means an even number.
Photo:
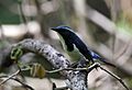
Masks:
[[[94,63],[94,59],[100,59],[101,61],[112,65],[110,63],[107,63],[105,59],[102,59],[98,54],[90,50],[87,45],[75,34],[75,32],[68,27],[68,26],[57,26],[52,27],[53,31],[56,31],[62,35],[62,37],[65,41],[65,44],[67,45],[67,50],[72,52],[74,50],[74,45],[78,48],[78,50],[88,59],[89,61]],[[113,66],[113,65],[112,65]]]

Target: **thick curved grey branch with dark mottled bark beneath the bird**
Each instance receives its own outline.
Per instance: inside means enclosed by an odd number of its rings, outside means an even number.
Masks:
[[[23,50],[42,55],[43,57],[47,58],[47,60],[56,69],[68,68],[70,66],[69,60],[66,59],[64,55],[43,41],[29,38],[15,44],[14,46],[21,46]],[[69,80],[69,88],[72,90],[88,90],[86,71],[62,70],[61,74]]]

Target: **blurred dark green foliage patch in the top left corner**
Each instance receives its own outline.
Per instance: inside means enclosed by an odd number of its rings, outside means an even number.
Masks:
[[[20,23],[20,15],[15,11],[18,11],[18,0],[0,1],[0,22],[2,24]]]

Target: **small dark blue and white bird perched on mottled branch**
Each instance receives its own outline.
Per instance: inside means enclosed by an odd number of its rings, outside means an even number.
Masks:
[[[84,56],[89,63],[92,64],[95,64],[95,60],[99,59],[107,65],[114,66],[113,64],[108,63],[97,53],[89,49],[82,40],[69,26],[59,25],[56,27],[51,27],[51,30],[57,32],[64,49],[72,58],[80,59]]]

